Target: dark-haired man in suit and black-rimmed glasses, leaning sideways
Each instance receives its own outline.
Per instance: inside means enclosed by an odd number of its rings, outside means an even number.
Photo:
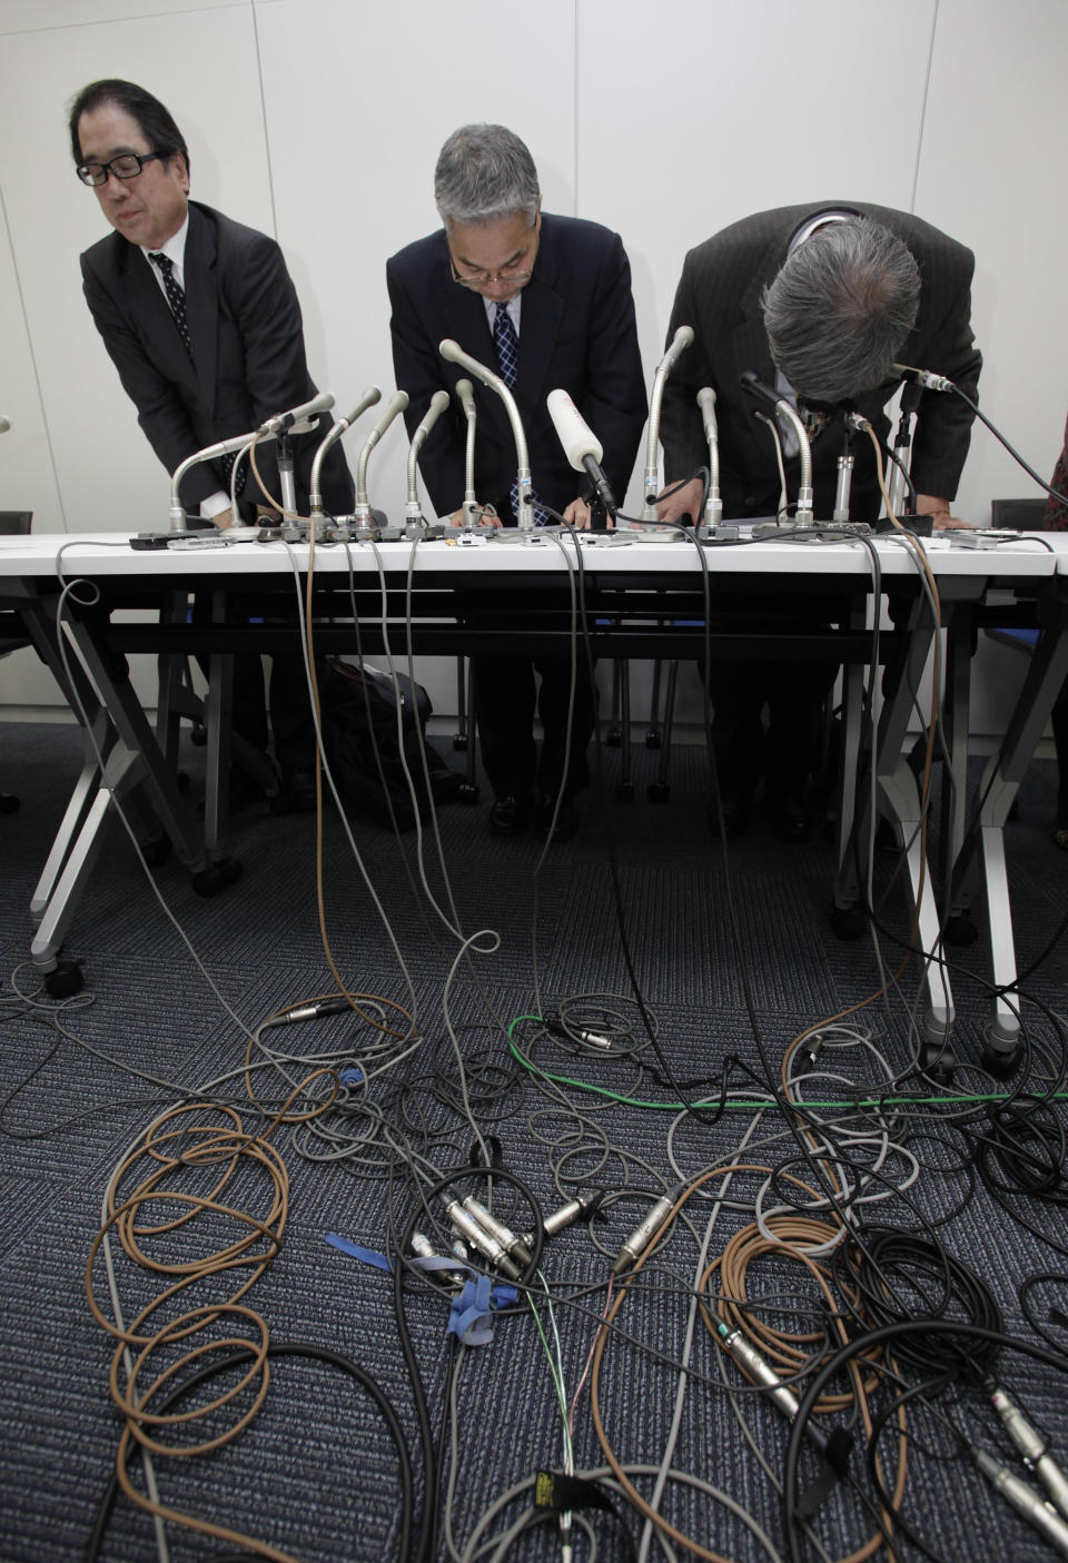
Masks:
[[[163,103],[130,81],[91,83],[70,108],[70,150],[116,230],[81,256],[86,302],[167,472],[205,445],[311,400],[300,305],[281,250],[266,234],[189,200],[189,153]],[[325,427],[291,439],[302,511],[324,433]],[[280,486],[275,450],[271,442],[256,450],[272,495]],[[211,463],[186,474],[180,497],[188,511],[199,505],[202,517],[227,528],[271,513],[253,489],[245,478],[242,514],[235,517],[228,469]],[[324,463],[322,491],[335,513],[352,510],[339,445]],[[258,656],[235,660],[233,706],[235,731],[266,750]],[[314,728],[296,639],[291,655],[274,658],[271,706],[289,799],[302,810],[314,807]],[[238,775],[233,782],[241,785]]]

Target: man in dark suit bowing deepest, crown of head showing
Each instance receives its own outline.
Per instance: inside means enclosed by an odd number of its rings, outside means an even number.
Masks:
[[[708,460],[696,394],[716,392],[719,486],[724,520],[774,516],[780,478],[768,428],[738,378],[754,370],[793,402],[812,438],[816,519],[835,500],[843,424],[841,403],[855,406],[885,441],[883,406],[901,380],[899,361],[954,380],[974,402],[982,358],[971,333],[974,256],[962,244],[907,213],[858,202],[824,202],[758,213],[724,228],[686,255],[668,330],[691,325],[663,400],[660,435],[668,488],[661,502],[672,520],[696,514]],[[768,410],[765,410],[768,411]],[[968,452],[973,413],[952,394],[924,392],[912,447],[916,510],[935,527],[954,527],[951,502]],[[837,424],[837,427],[835,427]],[[787,494],[796,495],[799,456],[787,433]],[[851,519],[874,520],[880,494],[866,436],[852,442],[855,458]],[[788,606],[776,621],[768,605],[740,605],[746,627],[754,614],[788,627]],[[807,774],[819,706],[833,669],[783,663],[713,666],[713,741],[724,822],[730,833],[749,824],[765,777],[765,802],[787,841],[808,832]],[[762,711],[768,706],[768,731]]]

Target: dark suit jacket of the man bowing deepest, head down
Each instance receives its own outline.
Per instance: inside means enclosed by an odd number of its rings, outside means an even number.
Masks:
[[[855,211],[883,224],[909,247],[921,277],[919,314],[901,349],[901,363],[949,375],[973,402],[982,356],[971,334],[971,277],[974,256],[938,228],[907,213],[871,206],[866,202],[819,202],[808,206],[782,206],[732,224],[722,233],[686,255],[682,280],[671,313],[668,341],[679,325],[694,328],[686,349],[668,380],[660,438],[668,481],[690,477],[708,461],[701,411],[694,397],[701,386],[716,392],[719,463],[724,516],[766,516],[779,497],[779,470],[769,431],[752,416],[754,403],[743,397],[738,375],[754,369],[774,384],[768,333],[760,297],[787,259],[793,234],[819,211]],[[857,408],[885,436],[890,422],[882,408],[893,397],[896,381],[887,381],[857,397]],[[952,499],[968,453],[973,414],[952,394],[924,392],[912,452],[912,477],[921,494]],[[813,441],[813,485],[816,517],[833,508],[841,428],[824,430]],[[871,520],[879,510],[874,455],[868,436],[854,441],[855,472],[851,514]],[[787,491],[797,494],[799,463],[787,464]]]

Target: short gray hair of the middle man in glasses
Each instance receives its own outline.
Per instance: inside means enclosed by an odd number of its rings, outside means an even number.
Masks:
[[[538,170],[519,136],[504,125],[461,125],[446,141],[433,199],[446,227],[488,227],[521,213],[538,217]]]

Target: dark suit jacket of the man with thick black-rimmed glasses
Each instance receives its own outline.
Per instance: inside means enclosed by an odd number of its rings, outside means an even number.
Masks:
[[[255,228],[189,203],[183,278],[192,361],[138,245],[108,234],[81,256],[81,277],[97,330],[167,472],[195,450],[253,430],[316,394],[286,263],[274,239]],[[328,417],[321,417],[316,431],[292,439],[302,506],[311,461],[328,427]],[[256,449],[256,464],[274,494],[275,452],[274,441]],[[202,463],[183,480],[183,503],[194,510],[225,486],[220,470]],[[335,514],[352,510],[352,478],[338,445],[324,461],[322,491]],[[245,499],[255,503],[256,495],[249,480]]]

